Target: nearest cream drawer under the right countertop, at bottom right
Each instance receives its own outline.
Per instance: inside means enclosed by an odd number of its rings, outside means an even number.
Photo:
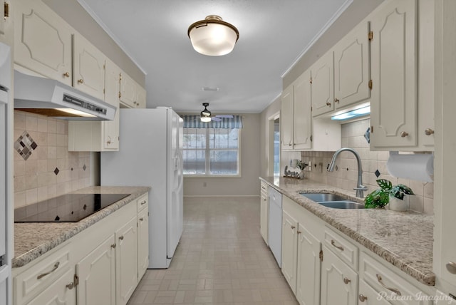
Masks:
[[[378,294],[385,296],[391,304],[430,304],[430,301],[417,298],[417,296],[425,296],[423,291],[364,252],[361,252],[360,255],[359,269],[360,278],[366,281]]]

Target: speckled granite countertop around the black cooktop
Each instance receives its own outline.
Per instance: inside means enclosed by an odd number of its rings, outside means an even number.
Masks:
[[[79,222],[26,222],[14,224],[14,258],[13,268],[22,267],[45,254],[49,250],[66,242],[67,239],[95,224],[100,219],[119,210],[142,194],[149,192],[150,187],[86,187],[74,194],[131,194],[118,202],[95,212]]]

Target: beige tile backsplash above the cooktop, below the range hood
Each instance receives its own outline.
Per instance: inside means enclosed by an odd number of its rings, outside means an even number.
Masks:
[[[90,186],[90,153],[68,152],[68,121],[14,111],[14,207]]]

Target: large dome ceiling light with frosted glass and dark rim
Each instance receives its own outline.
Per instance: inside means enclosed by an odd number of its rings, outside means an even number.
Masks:
[[[208,56],[222,56],[233,51],[239,39],[236,26],[217,15],[209,15],[189,26],[188,36],[195,51]]]

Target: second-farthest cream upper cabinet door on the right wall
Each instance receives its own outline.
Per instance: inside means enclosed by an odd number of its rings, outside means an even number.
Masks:
[[[311,148],[311,71],[304,72],[293,86],[294,149]]]

